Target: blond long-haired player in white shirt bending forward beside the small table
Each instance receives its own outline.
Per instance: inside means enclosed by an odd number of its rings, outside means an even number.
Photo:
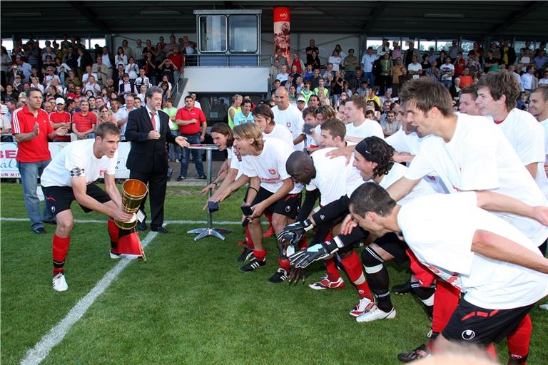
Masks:
[[[250,211],[244,214],[248,215],[249,231],[255,248],[253,259],[243,265],[241,270],[250,272],[266,264],[260,217],[264,212],[272,212],[272,225],[278,233],[288,224],[289,219],[295,219],[297,216],[302,186],[293,184],[285,170],[285,162],[293,153],[293,146],[277,138],[263,140],[262,132],[255,123],[243,123],[234,127],[234,146],[242,156],[243,175],[230,184],[218,199],[223,201],[225,197],[249,182],[245,206],[250,207]],[[288,258],[280,254],[279,263],[278,271],[268,279],[269,282],[278,283],[288,279]]]

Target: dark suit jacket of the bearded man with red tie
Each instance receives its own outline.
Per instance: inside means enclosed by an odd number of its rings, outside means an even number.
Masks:
[[[131,142],[126,168],[139,173],[168,172],[168,151],[166,142],[176,143],[169,128],[169,115],[158,110],[160,117],[160,138],[148,140],[152,130],[151,118],[146,108],[131,110],[126,127],[126,140]]]

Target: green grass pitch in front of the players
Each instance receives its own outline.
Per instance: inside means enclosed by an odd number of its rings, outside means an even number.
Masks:
[[[240,272],[242,192],[213,216],[234,231],[224,242],[194,242],[186,231],[203,224],[171,223],[168,235],[141,232],[146,262],[109,259],[105,218],[73,203],[76,219],[101,222],[76,222],[69,289],[55,292],[54,227],[35,235],[29,222],[6,220],[26,218],[22,188],[0,189],[1,364],[397,364],[399,352],[426,341],[430,322],[409,294],[392,294],[396,319],[358,324],[348,315],[357,293],[345,276],[344,289],[333,291],[269,284],[278,264],[273,238],[266,268]],[[203,221],[204,202],[198,187],[168,187],[166,220]],[[391,285],[407,279],[405,268],[389,271]],[[323,264],[307,274],[306,284],[320,279]],[[547,364],[548,313],[531,315],[529,364]],[[505,364],[504,341],[498,351]]]

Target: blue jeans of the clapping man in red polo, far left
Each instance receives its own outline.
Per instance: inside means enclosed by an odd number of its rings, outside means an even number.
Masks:
[[[17,163],[19,174],[21,174],[21,183],[23,183],[25,208],[31,219],[31,230],[36,230],[40,227],[43,228],[43,220],[51,221],[55,219],[47,200],[44,200],[44,218],[42,218],[40,200],[38,195],[36,195],[36,187],[38,186],[37,180],[50,161],[51,160],[39,161],[36,163]]]

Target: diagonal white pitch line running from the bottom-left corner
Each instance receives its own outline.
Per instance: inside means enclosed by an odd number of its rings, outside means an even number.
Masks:
[[[154,239],[154,237],[156,237],[156,235],[158,235],[158,232],[149,232],[148,235],[146,235],[143,242],[141,242],[143,249]],[[128,266],[130,262],[131,259],[121,259],[118,264],[108,270],[105,276],[97,282],[95,287],[93,287],[93,289],[86,294],[86,297],[80,299],[80,301],[72,307],[71,311],[68,312],[64,319],[61,319],[61,322],[56,324],[56,326],[52,328],[48,334],[44,335],[41,340],[34,345],[34,348],[30,349],[26,353],[25,358],[21,360],[21,365],[40,364],[44,361],[46,356],[48,356],[49,351],[51,351],[54,346],[59,344],[64,339],[64,336],[68,333],[68,331],[70,331],[74,324],[81,319],[83,314],[85,314],[89,307],[91,307],[91,304],[93,304],[98,296],[101,295],[114,280],[116,280],[118,275],[123,271],[123,269],[126,268],[126,266]]]

